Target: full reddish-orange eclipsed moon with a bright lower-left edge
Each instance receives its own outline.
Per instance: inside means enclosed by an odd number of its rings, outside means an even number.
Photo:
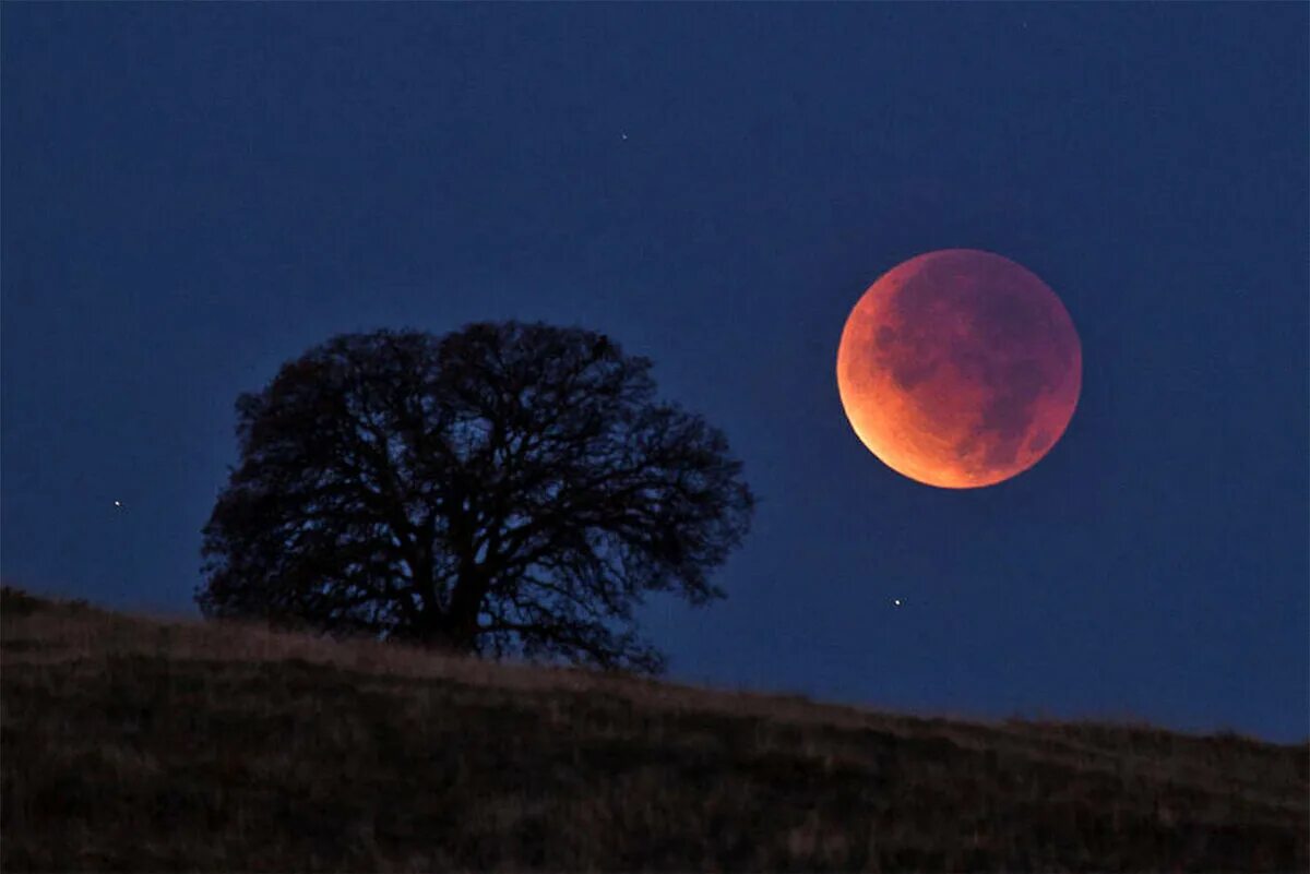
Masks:
[[[1073,319],[1045,283],[973,249],[910,258],[869,287],[837,349],[855,434],[941,488],[993,485],[1064,434],[1082,387]]]

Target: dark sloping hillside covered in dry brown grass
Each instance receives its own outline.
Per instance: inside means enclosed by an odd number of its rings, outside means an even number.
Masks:
[[[1310,748],[0,599],[17,870],[1306,870]]]

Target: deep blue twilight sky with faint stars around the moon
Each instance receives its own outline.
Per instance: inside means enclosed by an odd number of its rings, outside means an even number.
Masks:
[[[5,4],[0,570],[194,612],[238,393],[341,331],[544,319],[654,358],[761,497],[728,601],[646,611],[673,678],[1303,738],[1307,25]],[[837,396],[855,300],[945,247],[1082,339],[1064,440],[985,489]]]

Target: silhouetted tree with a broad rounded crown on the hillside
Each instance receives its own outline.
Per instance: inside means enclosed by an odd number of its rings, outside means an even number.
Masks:
[[[237,400],[206,616],[660,671],[633,607],[722,598],[753,497],[723,434],[600,334],[339,335]]]

